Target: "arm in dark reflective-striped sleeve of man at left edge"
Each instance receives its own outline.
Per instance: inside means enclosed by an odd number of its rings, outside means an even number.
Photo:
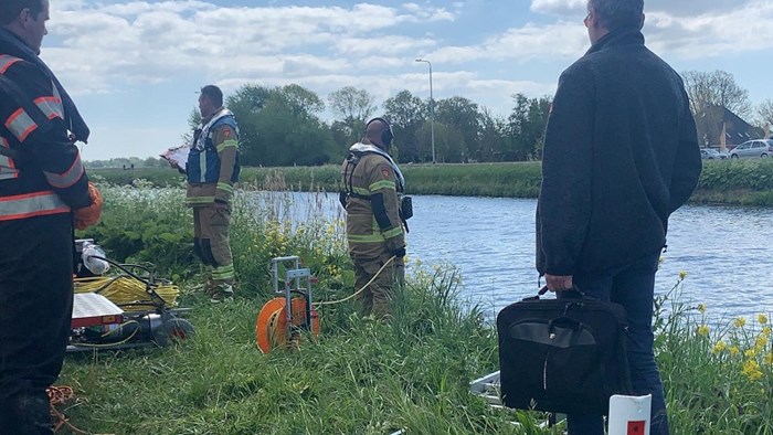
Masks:
[[[71,209],[92,203],[88,177],[77,147],[68,139],[64,107],[51,79],[29,62],[17,62],[6,76],[18,84],[30,104],[3,113],[2,121],[19,142],[22,170],[40,170],[52,190]],[[29,114],[29,110],[40,112]],[[27,107],[27,109],[25,109]],[[41,116],[42,113],[42,116]]]

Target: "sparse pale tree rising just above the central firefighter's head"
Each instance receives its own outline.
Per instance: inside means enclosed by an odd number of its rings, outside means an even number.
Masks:
[[[362,137],[366,121],[373,115],[378,106],[375,98],[364,89],[346,86],[328,95],[330,112],[338,119],[333,123],[333,137],[349,145]]]

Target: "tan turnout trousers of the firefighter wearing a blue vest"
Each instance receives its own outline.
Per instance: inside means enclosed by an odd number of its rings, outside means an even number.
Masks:
[[[214,205],[193,208],[193,245],[197,255],[207,266],[210,290],[213,286],[234,282],[230,229],[230,210],[218,210]]]

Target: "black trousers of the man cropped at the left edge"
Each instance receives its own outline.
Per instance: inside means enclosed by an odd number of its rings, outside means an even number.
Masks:
[[[51,434],[73,309],[70,214],[0,222],[0,435]]]

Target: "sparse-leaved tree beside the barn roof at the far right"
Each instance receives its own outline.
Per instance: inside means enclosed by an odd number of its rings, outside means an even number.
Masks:
[[[705,112],[709,106],[722,106],[741,118],[752,114],[749,92],[735,83],[732,74],[721,70],[711,73],[687,71],[682,76],[692,115]]]

